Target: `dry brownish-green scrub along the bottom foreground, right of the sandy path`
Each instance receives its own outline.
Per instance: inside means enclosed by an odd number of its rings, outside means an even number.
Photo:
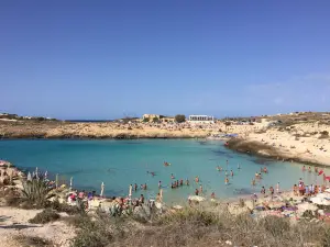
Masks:
[[[232,246],[330,246],[327,225],[308,222],[293,225],[288,218],[277,216],[255,221],[248,213],[234,216],[226,207],[212,212],[185,207],[142,225],[107,215],[76,218],[74,224],[79,229],[73,247],[207,247],[227,246],[226,242]]]

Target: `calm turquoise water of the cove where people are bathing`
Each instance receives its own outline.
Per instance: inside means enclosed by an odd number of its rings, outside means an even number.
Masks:
[[[321,182],[315,172],[302,172],[302,165],[277,162],[253,156],[237,154],[226,149],[222,142],[195,139],[139,139],[139,141],[1,141],[0,159],[7,159],[20,168],[47,170],[50,175],[59,173],[66,182],[74,178],[74,187],[100,191],[106,184],[106,195],[127,195],[129,184],[147,183],[147,191],[138,191],[146,197],[155,197],[158,181],[162,181],[164,200],[167,202],[186,200],[199,188],[194,180],[199,176],[204,194],[215,191],[217,198],[234,198],[258,192],[262,186],[268,188],[280,183],[282,189],[290,189],[302,178],[307,183]],[[224,184],[226,168],[234,176]],[[165,167],[164,161],[172,165]],[[238,169],[240,164],[241,169]],[[266,166],[270,173],[251,187],[251,180],[260,168]],[[307,166],[308,167],[308,166]],[[154,171],[152,177],[147,171]],[[175,179],[187,178],[190,186],[170,189],[170,175]],[[330,173],[330,172],[327,172]]]

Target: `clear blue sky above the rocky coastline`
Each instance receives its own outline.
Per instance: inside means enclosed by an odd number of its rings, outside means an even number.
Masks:
[[[1,1],[0,112],[329,111],[330,1]]]

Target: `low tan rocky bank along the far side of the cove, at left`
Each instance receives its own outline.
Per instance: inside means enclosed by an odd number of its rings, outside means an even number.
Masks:
[[[205,138],[209,130],[129,126],[116,123],[0,123],[0,138]]]

